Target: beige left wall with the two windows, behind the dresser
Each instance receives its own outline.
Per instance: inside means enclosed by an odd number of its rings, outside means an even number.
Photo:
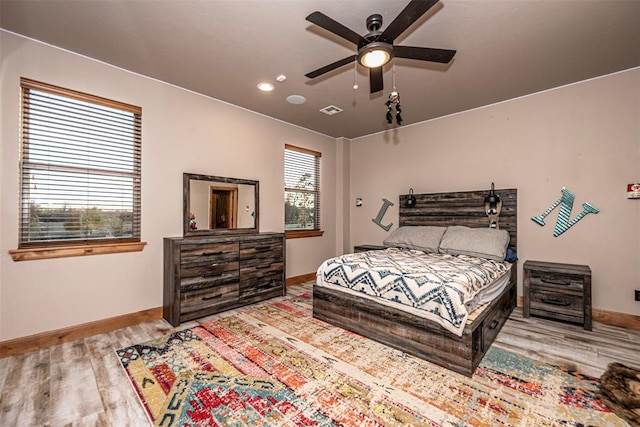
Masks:
[[[260,229],[282,231],[284,145],[322,152],[335,188],[336,142],[304,129],[0,31],[0,341],[162,305],[162,238],[182,234],[182,173],[260,181]],[[142,107],[143,252],[13,262],[18,228],[21,76]],[[274,94],[278,95],[278,94]],[[336,203],[323,237],[287,242],[287,276],[335,254]]]

